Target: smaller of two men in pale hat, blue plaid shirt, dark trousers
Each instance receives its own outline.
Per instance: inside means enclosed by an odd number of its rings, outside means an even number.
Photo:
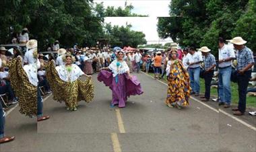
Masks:
[[[205,100],[202,100],[203,102],[208,102],[210,101],[211,82],[212,77],[214,76],[214,67],[216,66],[216,61],[214,55],[210,53],[211,50],[207,48],[207,46],[203,46],[199,48],[199,50],[204,56],[203,63],[205,69],[205,72],[203,73],[203,78],[205,81],[205,93],[201,98],[205,98]]]

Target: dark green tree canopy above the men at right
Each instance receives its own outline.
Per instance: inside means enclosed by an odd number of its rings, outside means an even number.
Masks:
[[[242,36],[256,50],[255,0],[172,0],[170,17],[160,17],[158,34],[183,46],[208,46],[218,53],[218,37]]]

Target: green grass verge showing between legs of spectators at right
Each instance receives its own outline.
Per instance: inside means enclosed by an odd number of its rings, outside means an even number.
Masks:
[[[154,77],[154,73],[148,73],[152,77]],[[168,83],[166,80],[166,75],[164,75],[164,79],[160,79],[160,81],[163,81],[164,83]],[[249,85],[251,87],[251,85]],[[200,78],[200,93],[205,92],[205,85],[204,85],[204,79]],[[217,88],[211,88],[211,96],[218,96],[218,89]],[[238,85],[237,83],[231,82],[231,100],[233,105],[238,104]],[[247,107],[256,108],[256,97],[255,96],[247,96]]]

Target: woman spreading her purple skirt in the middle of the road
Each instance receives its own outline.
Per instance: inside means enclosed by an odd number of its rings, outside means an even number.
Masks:
[[[124,108],[129,96],[140,95],[143,91],[139,81],[137,81],[137,77],[130,75],[129,67],[123,61],[125,52],[119,47],[114,48],[115,50],[117,52],[117,59],[108,67],[100,69],[98,81],[103,81],[112,90],[113,100],[111,107],[118,105],[119,108]]]

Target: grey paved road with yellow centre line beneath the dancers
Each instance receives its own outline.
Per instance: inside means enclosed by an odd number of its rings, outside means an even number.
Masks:
[[[6,120],[7,135],[16,140],[1,151],[256,151],[255,117],[245,124],[191,99],[182,110],[164,104],[167,86],[143,73],[137,75],[144,93],[132,96],[126,108],[110,108],[112,94],[94,79],[94,102],[79,102],[76,112],[45,97],[51,119],[36,124],[15,108]],[[82,79],[85,79],[84,77]]]

